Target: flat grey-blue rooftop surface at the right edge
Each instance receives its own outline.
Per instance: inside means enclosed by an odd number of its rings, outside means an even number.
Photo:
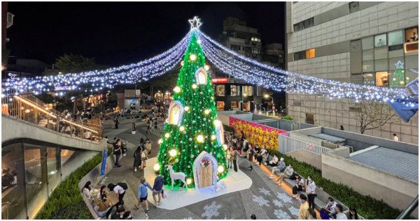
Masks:
[[[378,147],[352,155],[349,160],[374,167],[381,172],[419,182],[419,155]]]

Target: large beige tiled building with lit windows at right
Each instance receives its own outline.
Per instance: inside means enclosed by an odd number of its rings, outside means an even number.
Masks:
[[[419,3],[303,2],[286,3],[287,68],[340,82],[390,87],[395,66],[404,63],[404,87],[418,77]],[[414,70],[414,71],[413,71]],[[391,86],[394,87],[394,86]],[[288,113],[301,122],[360,132],[354,109],[339,99],[290,93]],[[379,113],[367,113],[379,114]],[[400,120],[366,135],[418,144],[419,117]]]

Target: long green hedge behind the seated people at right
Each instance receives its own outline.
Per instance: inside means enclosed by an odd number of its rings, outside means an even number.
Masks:
[[[334,183],[322,177],[321,171],[306,162],[297,161],[288,155],[279,153],[278,151],[269,150],[270,155],[274,153],[279,158],[284,158],[287,164],[292,163],[295,172],[307,178],[312,176],[318,187],[322,187],[325,192],[328,192],[332,197],[341,201],[349,207],[356,207],[358,213],[364,218],[373,218],[379,220],[395,220],[400,215],[401,211],[391,206],[388,206],[384,201],[373,199],[370,196],[363,196],[352,188],[347,187],[342,183]]]

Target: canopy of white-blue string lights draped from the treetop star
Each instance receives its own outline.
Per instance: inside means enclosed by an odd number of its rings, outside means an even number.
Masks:
[[[273,91],[286,91],[307,94],[318,94],[329,98],[353,98],[358,100],[376,100],[379,102],[402,102],[407,106],[418,105],[418,97],[410,96],[406,89],[391,89],[386,87],[367,86],[337,82],[299,73],[293,73],[281,68],[260,63],[228,49],[217,43],[200,31],[203,24],[199,17],[188,20],[190,31],[167,52],[151,59],[106,70],[92,70],[85,73],[53,75],[34,78],[11,77],[2,79],[2,96],[18,95],[20,93],[56,92],[63,95],[66,91],[94,92],[102,89],[112,89],[118,84],[136,84],[146,82],[153,77],[164,75],[181,63],[190,36],[195,33],[197,43],[202,46],[204,55],[216,68]],[[192,60],[197,59],[193,57]],[[398,63],[402,66],[402,63]]]

